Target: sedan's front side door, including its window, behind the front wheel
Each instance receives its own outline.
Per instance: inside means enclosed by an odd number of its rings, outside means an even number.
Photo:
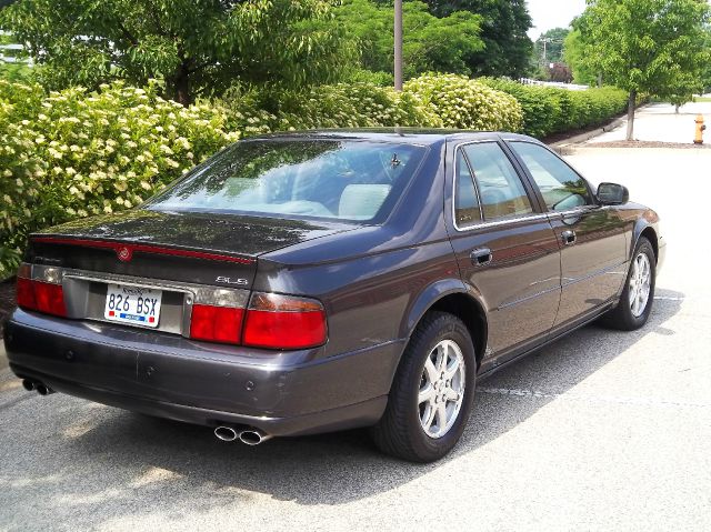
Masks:
[[[540,190],[561,243],[562,297],[555,327],[584,319],[614,298],[627,273],[624,222],[599,207],[588,182],[548,148],[509,141]]]

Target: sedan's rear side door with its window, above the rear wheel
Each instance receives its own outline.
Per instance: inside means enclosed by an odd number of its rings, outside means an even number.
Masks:
[[[560,300],[560,250],[533,190],[503,144],[461,143],[453,160],[451,242],[460,272],[489,320],[484,364],[498,364],[548,334]]]

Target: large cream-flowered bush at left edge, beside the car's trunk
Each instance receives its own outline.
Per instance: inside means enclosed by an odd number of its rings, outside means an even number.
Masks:
[[[237,140],[219,108],[166,101],[152,87],[97,93],[0,80],[0,279],[29,232],[127,209]]]

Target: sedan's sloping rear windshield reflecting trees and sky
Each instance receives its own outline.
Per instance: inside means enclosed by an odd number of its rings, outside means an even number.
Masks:
[[[418,145],[351,140],[238,142],[147,207],[374,221],[392,210],[424,151]]]

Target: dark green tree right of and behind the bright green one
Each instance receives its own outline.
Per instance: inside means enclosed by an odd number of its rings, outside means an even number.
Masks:
[[[533,42],[528,36],[533,22],[525,0],[427,0],[437,17],[458,11],[480,14],[484,49],[468,54],[467,64],[477,76],[521,78],[530,69]]]

